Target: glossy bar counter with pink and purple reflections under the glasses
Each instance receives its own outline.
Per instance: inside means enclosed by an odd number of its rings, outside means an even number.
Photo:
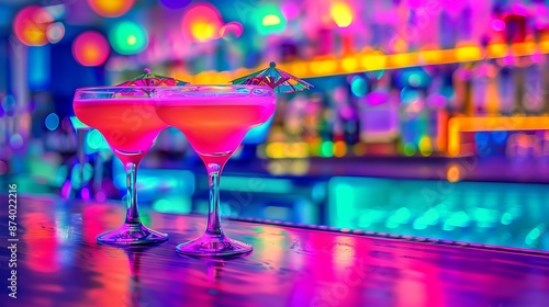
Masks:
[[[5,195],[1,198],[7,203]],[[98,246],[96,236],[122,221],[122,205],[20,195],[18,298],[8,296],[12,269],[4,247],[0,306],[533,307],[549,302],[549,258],[539,253],[223,220],[225,232],[251,243],[254,252],[192,259],[176,254],[175,247],[201,234],[204,216],[142,211],[147,226],[169,234],[168,242]],[[0,218],[7,246],[8,209]]]

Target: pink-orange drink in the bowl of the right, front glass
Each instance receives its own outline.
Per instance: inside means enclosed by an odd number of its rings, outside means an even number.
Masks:
[[[271,96],[225,93],[220,96],[199,92],[163,99],[157,114],[180,129],[205,163],[224,164],[238,148],[246,133],[274,113]]]

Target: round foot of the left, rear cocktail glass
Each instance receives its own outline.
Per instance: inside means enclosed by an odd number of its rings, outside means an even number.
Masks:
[[[168,235],[143,224],[124,224],[119,229],[98,236],[98,243],[109,246],[155,245],[168,240]]]

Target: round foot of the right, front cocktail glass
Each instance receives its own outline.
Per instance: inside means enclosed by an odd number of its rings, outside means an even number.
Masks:
[[[248,254],[251,250],[253,247],[248,243],[229,239],[224,235],[212,236],[208,234],[176,248],[179,254],[203,258],[228,258]]]

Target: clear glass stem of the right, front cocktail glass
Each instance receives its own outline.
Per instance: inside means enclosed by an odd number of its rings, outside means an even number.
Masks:
[[[212,236],[223,236],[220,213],[221,166],[217,163],[208,163],[206,170],[210,183],[210,206],[208,208],[208,227],[205,232]]]

